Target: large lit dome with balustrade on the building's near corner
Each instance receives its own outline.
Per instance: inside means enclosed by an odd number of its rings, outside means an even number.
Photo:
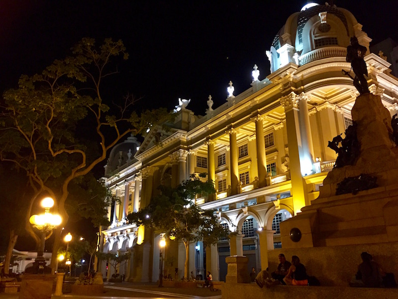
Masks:
[[[308,3],[289,16],[272,41],[267,51],[271,72],[290,62],[301,66],[316,59],[345,57],[350,36],[367,37],[361,28],[354,15],[344,8]],[[369,41],[365,42],[366,47]]]

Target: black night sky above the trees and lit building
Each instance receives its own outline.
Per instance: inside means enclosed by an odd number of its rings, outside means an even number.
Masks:
[[[248,89],[254,64],[260,80],[269,74],[265,50],[306,2],[1,0],[0,91],[64,58],[82,37],[111,37],[123,40],[130,58],[104,85],[109,101],[129,92],[142,97],[141,108],[172,109],[179,97],[191,98],[188,109],[203,115],[209,94],[213,109],[225,103],[229,80],[235,95]],[[396,0],[334,3],[350,10],[374,42],[398,40]]]

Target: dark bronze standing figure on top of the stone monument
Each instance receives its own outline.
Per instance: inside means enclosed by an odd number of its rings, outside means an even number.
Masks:
[[[354,80],[354,86],[362,95],[368,93],[368,82],[364,75],[368,76],[368,69],[364,60],[366,47],[358,43],[358,39],[353,36],[350,39],[350,45],[347,47],[346,61],[351,62],[351,68],[355,73],[355,78],[350,75],[350,72],[342,70],[344,75],[348,75]]]

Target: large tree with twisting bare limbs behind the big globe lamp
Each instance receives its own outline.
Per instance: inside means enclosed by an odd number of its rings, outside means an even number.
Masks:
[[[35,200],[51,196],[55,209],[68,222],[66,201],[73,180],[88,174],[106,158],[106,153],[130,133],[143,134],[150,126],[171,117],[165,109],[135,112],[132,97],[108,106],[102,83],[116,73],[111,61],[128,58],[121,40],[105,39],[100,47],[83,38],[72,56],[55,60],[41,74],[22,75],[19,88],[3,94],[0,115],[0,159],[13,162],[26,172],[32,196],[28,199],[25,229],[39,242],[29,224]],[[92,130],[96,149],[82,132]],[[89,134],[86,134],[89,135]],[[98,153],[96,153],[98,151]],[[51,266],[54,271],[60,245],[55,233]]]

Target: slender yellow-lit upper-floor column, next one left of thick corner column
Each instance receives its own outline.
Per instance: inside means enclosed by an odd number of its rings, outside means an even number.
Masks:
[[[265,179],[267,176],[267,158],[265,154],[263,119],[260,115],[252,119],[256,124],[257,169],[260,188],[267,185]]]

